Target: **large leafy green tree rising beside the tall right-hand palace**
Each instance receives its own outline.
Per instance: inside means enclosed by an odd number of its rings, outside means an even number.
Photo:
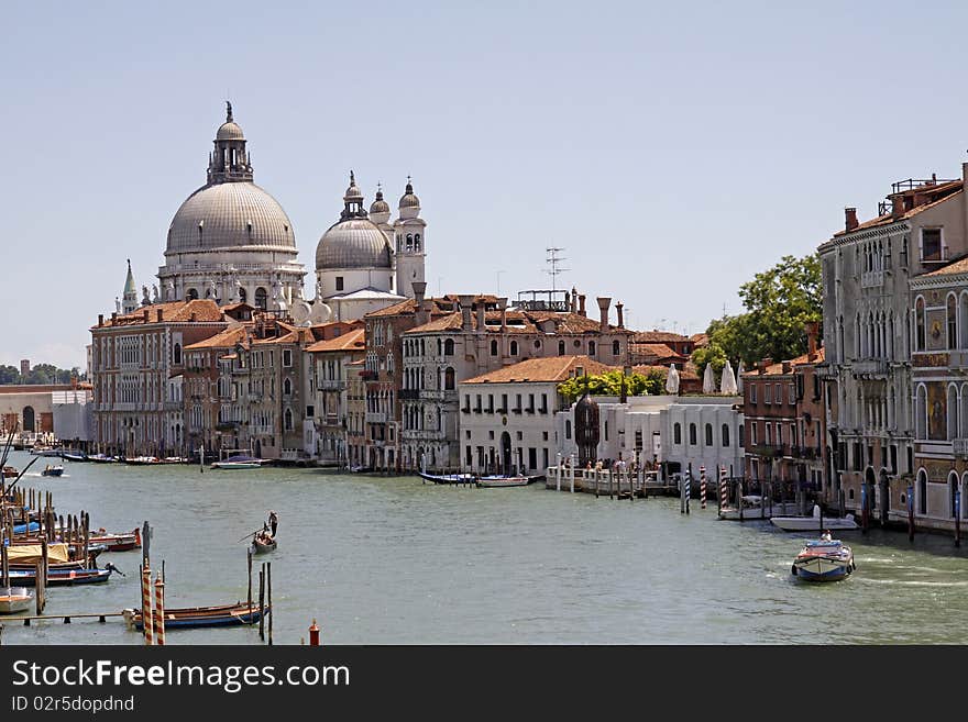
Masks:
[[[741,359],[747,366],[761,358],[779,362],[806,353],[805,324],[823,318],[820,257],[783,256],[740,286],[739,298],[746,313],[712,321],[706,330],[708,347],[717,346],[726,358]],[[719,352],[698,348],[693,362],[698,366],[700,362],[718,359]],[[718,371],[722,365],[717,369],[714,363],[713,368]],[[705,363],[700,375],[704,370]]]

